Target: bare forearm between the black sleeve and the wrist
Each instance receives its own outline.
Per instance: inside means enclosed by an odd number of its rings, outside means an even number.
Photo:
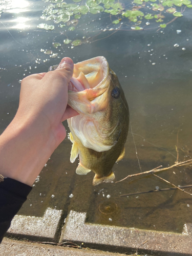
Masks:
[[[0,174],[30,186],[55,149],[51,130],[37,122],[18,113],[0,136]]]

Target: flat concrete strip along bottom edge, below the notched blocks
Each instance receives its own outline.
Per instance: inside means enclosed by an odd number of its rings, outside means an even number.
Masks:
[[[74,249],[62,246],[43,245],[4,238],[0,245],[0,256],[125,256],[125,254],[103,252],[92,249]]]

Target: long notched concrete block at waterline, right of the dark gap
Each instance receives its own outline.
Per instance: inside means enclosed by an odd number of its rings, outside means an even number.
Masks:
[[[60,241],[83,242],[91,248],[121,253],[135,252],[139,247],[138,252],[153,255],[192,255],[191,224],[185,224],[180,234],[90,224],[85,221],[86,213],[70,211]]]

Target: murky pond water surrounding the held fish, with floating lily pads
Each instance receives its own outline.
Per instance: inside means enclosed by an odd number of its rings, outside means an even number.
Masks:
[[[74,62],[104,56],[130,108],[125,156],[113,167],[115,181],[173,165],[176,146],[179,161],[191,159],[192,6],[187,1],[167,1],[167,6],[164,0],[88,0],[87,7],[84,0],[67,0],[67,7],[58,0],[0,1],[0,132],[17,111],[25,76],[47,72],[64,56]],[[190,195],[176,189],[120,197],[172,185],[141,175],[94,187],[92,172],[75,174],[78,161],[70,163],[70,151],[66,138],[19,214],[42,216],[52,207],[62,209],[65,218],[73,209],[87,212],[91,223],[173,232],[182,232],[183,225],[191,223]],[[190,166],[158,175],[176,186],[192,184]],[[192,188],[185,190],[192,193]]]

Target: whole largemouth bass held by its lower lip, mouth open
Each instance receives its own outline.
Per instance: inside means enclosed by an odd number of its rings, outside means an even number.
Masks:
[[[117,75],[104,57],[74,64],[68,104],[80,114],[68,119],[73,143],[70,161],[79,155],[76,173],[92,170],[93,185],[113,181],[112,167],[125,152],[129,108]]]

